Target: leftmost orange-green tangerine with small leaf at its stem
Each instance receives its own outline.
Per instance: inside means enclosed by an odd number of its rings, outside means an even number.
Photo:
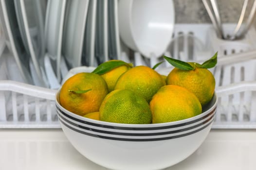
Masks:
[[[86,90],[89,91],[83,93]],[[59,101],[65,109],[84,116],[99,111],[107,94],[108,86],[100,75],[82,72],[73,75],[62,85]]]

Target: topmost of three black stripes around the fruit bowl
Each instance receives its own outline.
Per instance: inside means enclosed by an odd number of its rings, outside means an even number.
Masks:
[[[74,121],[78,121],[80,123],[83,123],[83,124],[88,124],[88,125],[91,125],[91,126],[97,126],[97,127],[102,127],[102,128],[109,128],[109,129],[119,129],[119,130],[161,130],[161,129],[170,129],[170,128],[176,128],[176,127],[181,127],[181,126],[186,126],[186,125],[189,125],[189,124],[192,124],[192,123],[195,123],[197,121],[200,121],[202,119],[205,119],[207,118],[209,115],[211,115],[213,112],[216,111],[216,107],[217,105],[215,106],[215,108],[210,112],[208,113],[207,115],[201,117],[201,118],[198,118],[198,119],[194,119],[194,120],[191,120],[191,121],[188,121],[188,122],[184,122],[184,123],[179,123],[179,124],[174,124],[174,125],[167,125],[167,126],[157,126],[157,127],[122,127],[122,126],[110,126],[110,125],[104,125],[104,124],[99,124],[99,123],[93,123],[93,122],[89,122],[89,121],[86,121],[86,120],[81,120],[81,119],[77,119],[77,118],[74,118],[70,115],[68,115],[67,113],[63,112],[60,108],[58,108],[58,106],[56,105],[56,109],[57,111],[59,111],[61,114],[63,114],[64,116],[68,117],[69,119],[73,119]],[[82,117],[81,117],[82,118]]]

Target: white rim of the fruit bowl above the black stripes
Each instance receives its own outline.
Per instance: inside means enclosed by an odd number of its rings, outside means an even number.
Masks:
[[[183,120],[178,120],[178,121],[171,121],[171,122],[165,122],[165,123],[151,123],[151,124],[125,124],[125,123],[113,123],[113,122],[107,122],[107,121],[101,121],[101,120],[94,120],[94,119],[89,119],[89,118],[85,118],[83,116],[79,116],[77,114],[74,114],[70,111],[68,111],[67,109],[65,109],[64,107],[61,106],[61,104],[59,103],[59,92],[60,92],[61,87],[57,90],[57,92],[55,93],[55,106],[56,109],[59,109],[60,111],[66,113],[67,115],[75,118],[75,119],[79,119],[81,121],[84,122],[88,122],[90,124],[97,124],[98,126],[110,126],[110,127],[120,127],[120,129],[122,128],[128,128],[128,129],[133,129],[133,128],[139,128],[141,130],[143,130],[144,128],[146,130],[150,129],[150,128],[164,128],[164,127],[169,127],[169,126],[175,126],[175,125],[181,125],[181,124],[186,124],[188,122],[196,122],[198,119],[200,120],[201,118],[203,118],[204,116],[208,115],[210,112],[214,112],[216,110],[217,104],[218,104],[218,97],[216,95],[216,93],[214,93],[212,99],[210,102],[215,102],[213,103],[212,106],[210,106],[210,108],[208,108],[207,110],[205,110],[204,112],[202,112],[201,114],[188,118],[188,119],[183,119]]]

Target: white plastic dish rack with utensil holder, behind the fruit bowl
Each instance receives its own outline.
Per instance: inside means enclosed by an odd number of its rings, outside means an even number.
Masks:
[[[224,25],[227,33],[233,28],[234,24]],[[256,129],[255,28],[237,41],[218,39],[211,24],[176,24],[173,39],[181,34],[191,34],[203,45],[198,48],[195,38],[192,41],[194,61],[208,59],[216,51],[219,54],[217,67],[211,69],[219,99],[212,128]],[[172,53],[175,58],[190,60],[191,42],[184,36],[182,47],[180,44],[175,42],[173,51],[166,51],[165,55]],[[60,128],[55,112],[56,90],[8,80],[8,55],[11,54],[0,56],[0,128]],[[134,65],[146,64],[138,52],[134,57]],[[152,67],[161,60],[162,57],[153,58],[147,65]],[[165,62],[157,71],[168,74],[171,69]]]

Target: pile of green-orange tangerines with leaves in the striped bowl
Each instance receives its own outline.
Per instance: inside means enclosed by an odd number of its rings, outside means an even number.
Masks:
[[[175,67],[167,76],[154,70],[160,63],[133,67],[120,60],[75,74],[62,85],[60,104],[74,114],[114,123],[164,123],[201,114],[214,95],[208,68],[217,64],[217,53],[202,64],[164,58]]]

